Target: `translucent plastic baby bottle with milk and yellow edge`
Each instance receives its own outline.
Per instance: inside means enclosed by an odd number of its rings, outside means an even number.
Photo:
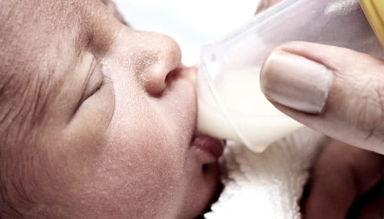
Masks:
[[[384,0],[284,0],[204,45],[197,75],[198,132],[262,152],[302,126],[260,90],[260,68],[271,50],[300,40],[383,59],[383,24]]]

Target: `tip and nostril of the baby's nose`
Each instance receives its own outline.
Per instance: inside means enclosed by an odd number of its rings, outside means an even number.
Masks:
[[[151,33],[149,48],[153,57],[141,73],[144,89],[153,96],[158,96],[166,89],[172,77],[167,77],[181,64],[182,53],[176,41],[162,34]]]

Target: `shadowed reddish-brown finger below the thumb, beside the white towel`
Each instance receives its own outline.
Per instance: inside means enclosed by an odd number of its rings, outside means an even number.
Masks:
[[[354,201],[383,178],[384,156],[333,140],[313,166],[303,215],[345,219]]]

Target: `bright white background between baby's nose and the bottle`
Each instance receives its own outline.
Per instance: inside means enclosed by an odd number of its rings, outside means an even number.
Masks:
[[[115,0],[134,28],[167,34],[179,43],[183,63],[199,61],[199,47],[249,20],[259,0]]]

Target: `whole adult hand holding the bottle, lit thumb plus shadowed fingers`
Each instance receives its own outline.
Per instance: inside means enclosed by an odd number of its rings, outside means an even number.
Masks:
[[[266,7],[280,0],[264,0]],[[260,10],[258,10],[260,11]],[[333,138],[384,153],[384,62],[305,42],[276,48],[261,72],[280,110]],[[382,219],[384,156],[337,140],[324,146],[301,200],[308,219]]]

